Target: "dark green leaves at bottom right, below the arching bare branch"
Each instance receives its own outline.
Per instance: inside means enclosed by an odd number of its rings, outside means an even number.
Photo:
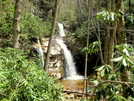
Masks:
[[[91,81],[95,84],[96,96],[94,98],[95,101],[127,101],[121,95],[121,85],[117,83],[103,82],[103,80],[93,80]],[[93,92],[93,88],[90,88],[90,91]]]

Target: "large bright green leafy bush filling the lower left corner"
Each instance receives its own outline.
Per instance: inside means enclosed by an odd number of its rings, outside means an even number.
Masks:
[[[21,50],[0,49],[1,101],[60,101],[61,87]]]

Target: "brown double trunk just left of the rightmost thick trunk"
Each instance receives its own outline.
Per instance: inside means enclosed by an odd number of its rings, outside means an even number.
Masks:
[[[106,0],[106,11],[114,12],[113,0]],[[113,58],[113,46],[116,37],[117,22],[106,22],[105,42],[104,42],[104,63],[113,66],[111,59]]]

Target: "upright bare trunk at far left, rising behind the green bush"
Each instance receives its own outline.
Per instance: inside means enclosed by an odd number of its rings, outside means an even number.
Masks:
[[[20,38],[20,12],[21,12],[21,3],[22,0],[16,0],[15,2],[15,11],[14,11],[14,20],[13,20],[13,47],[19,48],[19,38]]]

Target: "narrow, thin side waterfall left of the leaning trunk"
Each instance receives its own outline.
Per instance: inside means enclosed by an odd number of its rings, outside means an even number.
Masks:
[[[43,50],[42,50],[39,38],[37,38],[37,43],[38,43],[37,52],[38,52],[39,58],[40,58],[40,64],[39,65],[41,67],[44,67],[44,54],[43,54]]]

